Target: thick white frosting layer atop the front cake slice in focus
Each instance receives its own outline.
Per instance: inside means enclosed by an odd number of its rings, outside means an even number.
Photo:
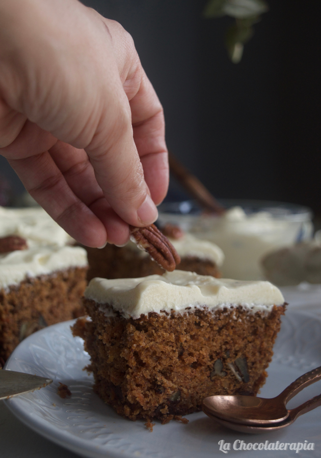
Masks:
[[[273,305],[284,303],[280,290],[268,281],[218,279],[181,270],[143,278],[93,278],[85,297],[112,305],[125,318],[204,306],[218,309],[242,305],[253,312],[268,312]]]

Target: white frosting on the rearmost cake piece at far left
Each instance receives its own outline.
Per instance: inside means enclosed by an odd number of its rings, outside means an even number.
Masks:
[[[29,248],[34,246],[64,246],[74,240],[40,207],[0,207],[0,238],[22,237]]]

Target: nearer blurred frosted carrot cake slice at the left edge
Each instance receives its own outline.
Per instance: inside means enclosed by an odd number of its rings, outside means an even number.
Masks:
[[[0,254],[0,362],[33,332],[84,313],[86,273],[87,256],[81,247]]]

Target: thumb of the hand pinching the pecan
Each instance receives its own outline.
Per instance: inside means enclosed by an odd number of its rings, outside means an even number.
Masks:
[[[111,207],[128,224],[146,226],[157,219],[158,212],[133,140],[128,100],[124,95],[113,99],[117,100],[118,106],[113,110],[109,106],[96,130],[105,134],[98,133],[85,150]],[[109,127],[103,129],[103,126]]]

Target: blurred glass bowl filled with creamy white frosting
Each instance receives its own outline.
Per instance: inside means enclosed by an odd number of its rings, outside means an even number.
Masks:
[[[312,211],[283,202],[220,199],[223,216],[202,212],[195,201],[164,203],[159,222],[178,224],[196,237],[216,243],[225,254],[222,275],[239,280],[264,278],[261,258],[313,235]]]

